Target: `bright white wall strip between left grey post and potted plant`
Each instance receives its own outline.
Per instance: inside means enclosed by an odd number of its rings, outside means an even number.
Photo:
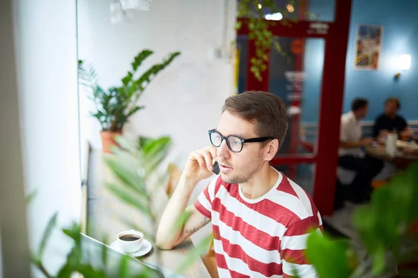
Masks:
[[[14,6],[23,175],[26,193],[38,191],[28,213],[36,250],[54,212],[60,228],[79,222],[76,1],[14,0]],[[49,271],[61,266],[68,247],[56,230],[45,253]]]

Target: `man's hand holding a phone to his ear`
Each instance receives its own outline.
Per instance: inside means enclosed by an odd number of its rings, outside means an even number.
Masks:
[[[213,146],[204,149],[196,149],[189,155],[186,163],[183,177],[196,182],[207,179],[212,176],[213,161],[217,161],[216,149]]]

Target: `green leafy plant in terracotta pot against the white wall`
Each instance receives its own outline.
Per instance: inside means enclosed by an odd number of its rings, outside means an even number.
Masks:
[[[102,137],[103,152],[110,152],[111,145],[115,145],[114,138],[122,133],[123,126],[129,117],[137,113],[144,106],[139,106],[137,101],[146,89],[146,86],[157,75],[164,70],[180,52],[169,54],[168,58],[162,63],[150,67],[139,77],[135,74],[139,70],[141,63],[153,54],[153,51],[145,49],[134,57],[132,69],[121,80],[121,85],[104,90],[99,84],[97,74],[93,67],[88,69],[84,66],[84,61],[79,60],[79,80],[88,90],[91,91],[96,111],[93,117],[98,119],[102,126],[100,136]]]

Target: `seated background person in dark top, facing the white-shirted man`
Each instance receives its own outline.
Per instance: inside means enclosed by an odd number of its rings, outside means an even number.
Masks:
[[[413,138],[414,133],[405,119],[397,115],[401,103],[396,97],[385,101],[385,113],[376,118],[373,126],[373,138],[384,138],[387,133],[398,133],[398,138]]]

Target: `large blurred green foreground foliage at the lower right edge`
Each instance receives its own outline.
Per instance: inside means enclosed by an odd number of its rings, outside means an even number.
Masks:
[[[355,211],[354,226],[373,262],[373,275],[393,270],[401,260],[403,240],[411,235],[410,227],[418,220],[417,184],[418,163],[412,163],[395,174],[387,186],[376,189],[369,205]],[[395,265],[387,265],[387,253],[392,254]]]

